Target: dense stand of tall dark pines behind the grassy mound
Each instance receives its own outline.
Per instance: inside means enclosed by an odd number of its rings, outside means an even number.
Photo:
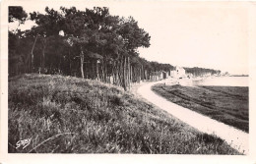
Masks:
[[[149,80],[151,72],[174,69],[141,58],[138,48],[150,47],[150,34],[134,18],[112,16],[106,7],[46,7],[43,14],[29,15],[22,7],[9,8],[10,23],[24,24],[26,20],[36,26],[9,31],[10,76],[62,74],[111,82],[127,89],[131,82]]]

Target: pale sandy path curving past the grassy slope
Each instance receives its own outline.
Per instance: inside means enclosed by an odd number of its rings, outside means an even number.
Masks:
[[[214,134],[218,137],[221,137],[227,143],[229,143],[231,147],[237,149],[241,153],[248,154],[248,134],[236,130],[230,126],[227,126],[224,123],[220,123],[209,117],[203,116],[192,110],[167,101],[165,98],[156,94],[151,89],[152,85],[161,82],[164,81],[145,83],[138,88],[137,92],[148,101],[152,102],[153,104],[157,105],[161,109],[167,111],[172,116],[180,119],[188,125],[196,128],[203,133],[207,133],[209,135]]]

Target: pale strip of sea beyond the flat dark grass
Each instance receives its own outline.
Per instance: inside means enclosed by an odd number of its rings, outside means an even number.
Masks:
[[[211,77],[192,83],[195,85],[249,86],[249,77]]]

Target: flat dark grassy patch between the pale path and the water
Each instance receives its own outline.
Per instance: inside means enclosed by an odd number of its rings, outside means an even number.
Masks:
[[[180,106],[249,131],[248,87],[157,84],[153,90]]]

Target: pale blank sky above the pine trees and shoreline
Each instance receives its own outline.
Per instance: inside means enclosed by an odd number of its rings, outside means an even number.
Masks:
[[[146,3],[147,2],[147,3]],[[37,5],[37,6],[36,6]],[[151,35],[151,46],[140,56],[180,67],[202,67],[229,74],[248,74],[248,11],[230,2],[112,1],[73,4],[23,5],[30,13],[44,8],[109,7],[111,15],[132,16]],[[22,28],[30,28],[26,23]]]

